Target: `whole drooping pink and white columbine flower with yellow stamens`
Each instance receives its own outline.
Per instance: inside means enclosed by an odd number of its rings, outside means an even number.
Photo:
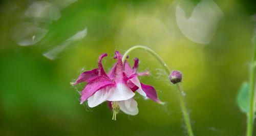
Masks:
[[[105,56],[107,56],[105,53],[99,56],[97,69],[83,72],[74,83],[75,85],[80,82],[88,82],[81,92],[80,104],[88,101],[89,107],[95,107],[104,101],[108,101],[113,110],[112,119],[116,120],[119,109],[128,115],[138,114],[138,104],[133,99],[136,91],[144,97],[161,103],[153,86],[140,83],[138,76],[148,75],[149,73],[137,73],[138,58],[134,59],[132,68],[126,60],[124,64],[122,63],[122,56],[116,51],[114,58],[117,59],[117,62],[106,74],[101,63]]]

